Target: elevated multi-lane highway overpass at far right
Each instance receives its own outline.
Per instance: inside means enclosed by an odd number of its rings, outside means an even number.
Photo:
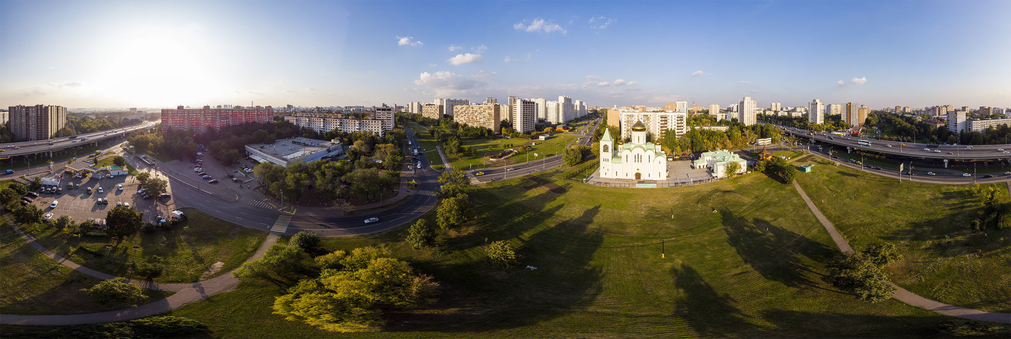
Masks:
[[[835,135],[828,132],[816,132],[793,127],[779,127],[788,133],[800,137],[815,139],[819,142],[876,151],[879,153],[964,160],[1011,157],[1011,145],[972,145],[972,148],[966,148],[967,145],[939,145],[937,147],[927,147],[926,143],[885,141],[855,136]],[[813,135],[808,135],[808,133],[813,133]],[[861,145],[859,144],[860,140],[868,141],[870,142],[870,145]]]

